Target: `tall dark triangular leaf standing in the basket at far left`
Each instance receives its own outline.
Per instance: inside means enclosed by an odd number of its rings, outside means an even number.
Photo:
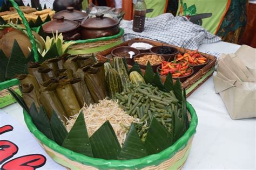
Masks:
[[[16,74],[26,74],[27,63],[28,62],[26,61],[21,47],[19,47],[18,42],[15,40],[11,56],[5,70],[6,79],[12,79]]]

